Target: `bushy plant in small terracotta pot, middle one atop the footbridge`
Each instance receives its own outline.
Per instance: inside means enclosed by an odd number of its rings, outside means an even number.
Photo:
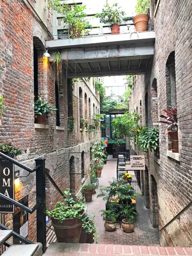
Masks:
[[[100,18],[101,23],[109,23],[111,27],[111,34],[119,34],[120,33],[120,23],[123,20],[123,16],[125,12],[115,3],[112,6],[107,4],[102,9],[101,13],[97,13],[95,15],[96,18]]]

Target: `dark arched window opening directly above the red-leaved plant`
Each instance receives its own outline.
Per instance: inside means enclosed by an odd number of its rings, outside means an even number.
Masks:
[[[169,54],[165,68],[167,107],[176,107],[175,52]]]

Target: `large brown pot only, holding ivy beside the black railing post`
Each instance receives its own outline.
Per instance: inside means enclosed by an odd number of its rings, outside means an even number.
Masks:
[[[82,222],[78,218],[64,219],[51,218],[58,243],[79,243]]]

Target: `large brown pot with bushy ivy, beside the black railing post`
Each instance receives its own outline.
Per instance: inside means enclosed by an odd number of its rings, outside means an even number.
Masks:
[[[59,201],[53,210],[46,213],[51,218],[57,242],[78,243],[82,218],[85,215],[84,204],[81,201],[74,201],[69,190],[64,191],[63,201]]]

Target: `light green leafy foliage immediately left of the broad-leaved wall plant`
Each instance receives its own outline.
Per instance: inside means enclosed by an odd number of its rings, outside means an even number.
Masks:
[[[140,133],[140,125],[138,124],[140,117],[138,113],[126,112],[112,120],[114,135],[136,137]]]

